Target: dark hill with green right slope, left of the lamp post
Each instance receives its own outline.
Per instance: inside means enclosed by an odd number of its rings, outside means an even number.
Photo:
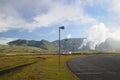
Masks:
[[[35,41],[35,40],[22,40],[18,39],[8,43],[10,46],[31,46],[41,48],[43,50],[56,51],[57,48],[51,42],[47,40]]]

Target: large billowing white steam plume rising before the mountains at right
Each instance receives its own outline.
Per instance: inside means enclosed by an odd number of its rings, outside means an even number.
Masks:
[[[114,40],[120,40],[120,28],[107,27],[104,23],[98,23],[93,25],[88,30],[88,38],[83,40],[82,45],[79,47],[82,48],[89,44],[90,49],[94,50],[96,46],[105,42],[106,39],[112,38]]]

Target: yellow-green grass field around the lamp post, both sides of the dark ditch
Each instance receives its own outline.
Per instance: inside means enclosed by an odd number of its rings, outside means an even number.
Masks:
[[[66,65],[67,60],[75,57],[80,55],[62,55],[60,67],[57,55],[0,57],[0,70],[38,61],[0,75],[0,80],[77,80]]]

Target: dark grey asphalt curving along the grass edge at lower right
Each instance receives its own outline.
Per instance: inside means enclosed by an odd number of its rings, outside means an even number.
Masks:
[[[80,80],[120,80],[120,56],[86,56],[71,59],[67,65]]]

